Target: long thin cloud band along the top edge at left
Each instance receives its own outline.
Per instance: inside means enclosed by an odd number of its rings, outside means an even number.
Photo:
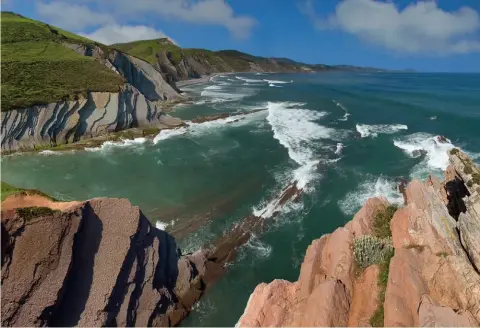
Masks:
[[[88,0],[88,6],[74,0],[38,2],[38,13],[52,24],[81,31],[91,26],[124,25],[125,21],[171,19],[180,22],[222,26],[236,38],[247,38],[256,20],[235,14],[225,0]]]

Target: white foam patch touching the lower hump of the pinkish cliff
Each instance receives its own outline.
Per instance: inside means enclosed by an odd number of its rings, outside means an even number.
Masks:
[[[338,205],[346,215],[354,215],[371,197],[383,196],[391,204],[403,204],[403,195],[398,191],[397,184],[385,177],[369,178],[348,193]]]

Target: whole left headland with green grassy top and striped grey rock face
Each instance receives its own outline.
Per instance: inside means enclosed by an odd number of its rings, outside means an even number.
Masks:
[[[181,124],[163,107],[184,97],[138,58],[12,13],[2,50],[2,150]]]

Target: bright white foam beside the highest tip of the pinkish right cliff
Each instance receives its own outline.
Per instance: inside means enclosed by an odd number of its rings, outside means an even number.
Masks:
[[[423,132],[396,139],[393,144],[412,158],[425,154],[425,159],[414,168],[414,175],[424,175],[429,169],[444,171],[449,164],[448,151],[455,148],[449,139],[440,142],[439,136]]]

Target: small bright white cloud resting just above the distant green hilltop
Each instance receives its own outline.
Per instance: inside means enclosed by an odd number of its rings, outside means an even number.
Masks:
[[[158,38],[167,38],[162,31],[144,25],[106,25],[92,33],[80,33],[80,35],[89,39],[104,43],[122,43],[136,40],[149,40]],[[176,44],[171,38],[170,41]]]

